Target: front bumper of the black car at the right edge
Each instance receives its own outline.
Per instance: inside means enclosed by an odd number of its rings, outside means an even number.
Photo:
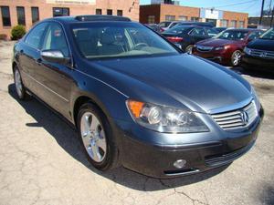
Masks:
[[[257,56],[242,56],[241,66],[249,69],[274,71],[274,59],[266,59]]]

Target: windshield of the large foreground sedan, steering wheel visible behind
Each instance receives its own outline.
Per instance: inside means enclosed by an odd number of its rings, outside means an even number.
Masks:
[[[161,36],[136,23],[76,24],[72,31],[86,58],[179,54]]]

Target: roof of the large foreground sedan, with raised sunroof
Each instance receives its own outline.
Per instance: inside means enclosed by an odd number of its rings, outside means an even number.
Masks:
[[[47,18],[45,21],[55,20],[63,24],[79,23],[79,22],[100,22],[100,21],[119,21],[131,22],[128,17],[118,15],[76,15],[76,16],[58,16]]]

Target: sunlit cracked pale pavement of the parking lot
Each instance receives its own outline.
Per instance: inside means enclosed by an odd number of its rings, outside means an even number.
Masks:
[[[177,179],[101,173],[72,128],[36,99],[18,100],[13,44],[0,42],[0,204],[274,204],[274,75],[234,69],[258,91],[265,118],[255,147],[231,165]]]

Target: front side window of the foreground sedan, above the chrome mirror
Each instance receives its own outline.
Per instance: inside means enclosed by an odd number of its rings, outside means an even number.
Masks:
[[[48,26],[43,50],[58,50],[65,57],[69,56],[67,40],[62,27],[58,23],[51,23]]]

